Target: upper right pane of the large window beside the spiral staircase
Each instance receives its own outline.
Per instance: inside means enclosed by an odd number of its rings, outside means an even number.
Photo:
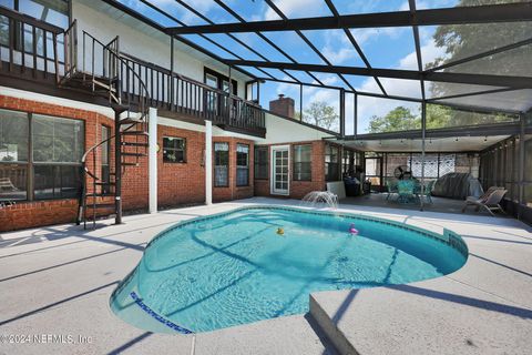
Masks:
[[[81,162],[82,121],[33,114],[32,124],[34,162]]]

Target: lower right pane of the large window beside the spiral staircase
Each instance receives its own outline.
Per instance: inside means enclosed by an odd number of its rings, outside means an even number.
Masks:
[[[35,200],[74,199],[80,195],[80,166],[33,166]]]

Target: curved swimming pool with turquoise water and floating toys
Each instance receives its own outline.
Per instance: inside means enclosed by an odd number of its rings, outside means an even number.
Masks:
[[[349,233],[351,224],[358,234]],[[279,231],[279,229],[282,229]],[[443,235],[361,215],[253,206],[160,233],[111,308],[152,332],[208,332],[308,312],[308,295],[439,277],[468,251]]]

